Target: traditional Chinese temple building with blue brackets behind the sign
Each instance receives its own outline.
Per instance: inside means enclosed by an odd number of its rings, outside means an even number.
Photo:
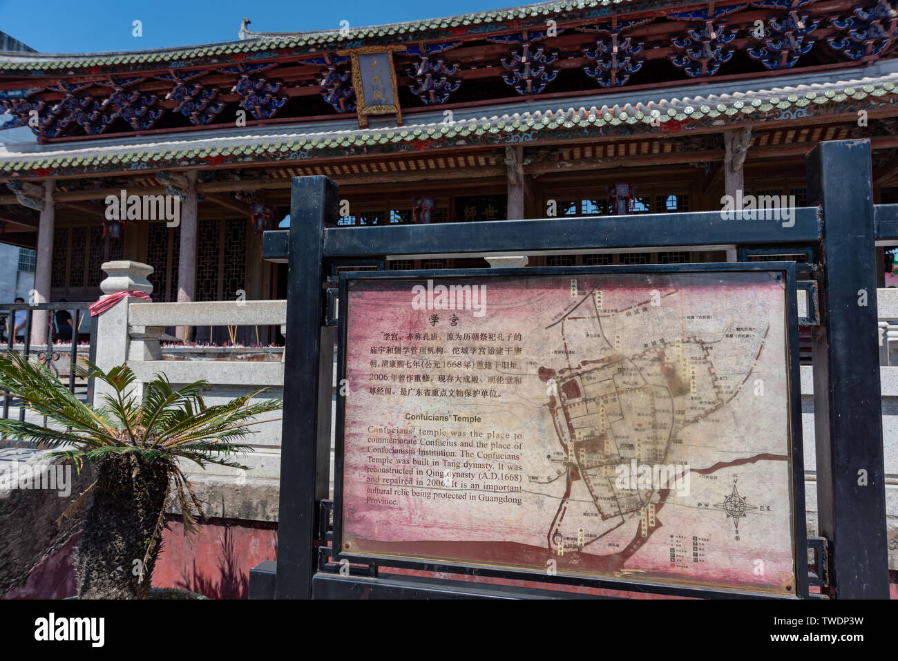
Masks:
[[[339,183],[339,224],[471,222],[476,244],[481,220],[716,210],[725,195],[802,206],[805,154],[865,138],[874,201],[898,201],[898,12],[885,0],[250,25],[204,46],[0,53],[0,242],[37,250],[40,300],[100,295],[114,259],[151,264],[156,301],[283,298],[286,266],[261,260],[261,233],[288,222],[301,175]],[[770,259],[715,248],[528,258]]]

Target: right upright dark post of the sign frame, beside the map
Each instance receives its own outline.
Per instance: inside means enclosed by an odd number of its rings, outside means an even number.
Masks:
[[[820,534],[831,545],[829,590],[840,599],[887,599],[870,143],[821,143],[806,167],[808,202],[823,207],[814,429]]]

